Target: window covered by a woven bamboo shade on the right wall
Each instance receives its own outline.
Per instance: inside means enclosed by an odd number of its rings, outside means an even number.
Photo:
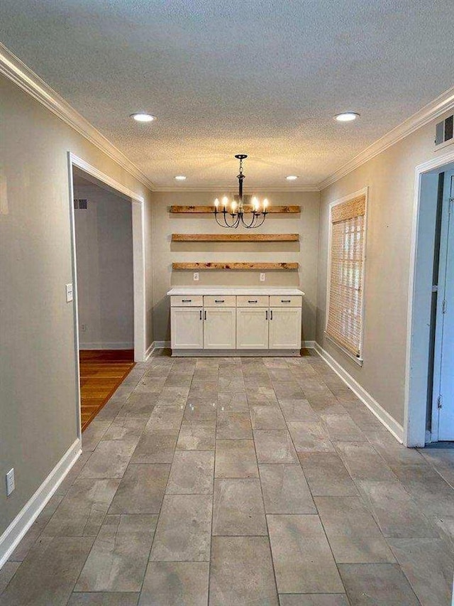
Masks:
[[[362,359],[366,193],[333,202],[330,212],[326,335]]]

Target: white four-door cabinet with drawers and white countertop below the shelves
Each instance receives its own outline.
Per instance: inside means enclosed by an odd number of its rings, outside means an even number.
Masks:
[[[295,288],[173,288],[168,294],[172,355],[299,354],[304,293]]]

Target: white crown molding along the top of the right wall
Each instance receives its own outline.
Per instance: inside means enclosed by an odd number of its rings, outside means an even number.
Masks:
[[[433,101],[420,109],[419,112],[416,112],[416,114],[413,114],[413,116],[404,120],[402,124],[399,124],[380,139],[377,139],[377,141],[372,143],[372,145],[366,147],[360,153],[358,153],[358,156],[352,158],[350,161],[344,164],[344,166],[339,168],[338,171],[321,181],[321,183],[319,183],[319,190],[321,191],[327,188],[328,185],[336,183],[336,181],[354,171],[355,168],[362,166],[362,164],[371,160],[372,158],[375,158],[375,156],[378,156],[378,154],[382,153],[382,151],[385,149],[391,147],[398,141],[404,139],[406,136],[414,133],[414,131],[420,129],[421,126],[425,126],[432,120],[440,117],[453,108],[454,87],[440,94],[438,97],[436,97],[436,99],[433,99]]]

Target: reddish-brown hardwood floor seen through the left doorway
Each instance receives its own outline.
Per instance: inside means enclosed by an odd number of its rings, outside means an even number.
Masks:
[[[87,429],[134,367],[133,350],[82,350],[80,399],[82,431]]]

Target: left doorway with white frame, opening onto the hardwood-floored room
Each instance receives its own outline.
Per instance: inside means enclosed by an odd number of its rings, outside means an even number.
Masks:
[[[79,435],[145,359],[143,198],[69,154]]]

